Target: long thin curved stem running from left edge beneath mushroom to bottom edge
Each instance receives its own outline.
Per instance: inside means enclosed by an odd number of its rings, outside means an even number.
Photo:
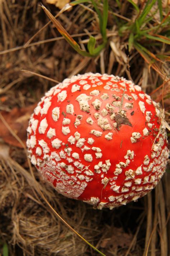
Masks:
[[[0,113],[0,119],[1,121],[5,124],[6,128],[10,131],[10,133],[20,142],[20,144],[23,146],[25,154],[27,156],[27,161],[28,161],[28,165],[29,165],[29,169],[33,178],[33,183],[34,183],[34,188],[36,189],[36,191],[38,192],[38,194],[41,196],[41,198],[44,200],[44,202],[46,202],[46,204],[48,205],[48,207],[51,209],[51,211],[53,213],[55,213],[55,215],[71,230],[73,231],[78,237],[80,237],[85,243],[87,243],[90,247],[92,247],[95,251],[97,251],[98,253],[100,253],[100,255],[105,256],[104,253],[100,252],[98,249],[96,249],[92,244],[90,244],[84,237],[82,237],[79,233],[77,233],[76,230],[74,230],[56,211],[55,209],[51,206],[51,204],[47,201],[47,199],[44,197],[38,182],[35,179],[34,173],[33,173],[33,169],[30,163],[30,160],[28,158],[28,153],[27,153],[27,149],[25,147],[25,145],[23,144],[23,142],[20,140],[20,138],[15,134],[15,132],[10,128],[10,126],[8,125],[8,123],[6,123],[5,119],[3,118],[3,116]],[[33,186],[33,184],[31,184],[31,186]]]

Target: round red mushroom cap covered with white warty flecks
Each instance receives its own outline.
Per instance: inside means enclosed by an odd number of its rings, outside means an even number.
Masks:
[[[162,110],[114,75],[72,76],[51,88],[30,119],[32,164],[66,197],[98,209],[136,201],[165,172]]]

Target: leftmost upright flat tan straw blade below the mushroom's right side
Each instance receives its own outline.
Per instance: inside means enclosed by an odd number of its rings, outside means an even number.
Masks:
[[[146,256],[147,247],[150,241],[152,230],[152,196],[151,193],[147,194],[147,228],[146,228],[146,237],[145,237],[145,250],[143,256]]]

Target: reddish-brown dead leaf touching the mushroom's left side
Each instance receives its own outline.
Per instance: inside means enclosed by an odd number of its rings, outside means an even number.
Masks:
[[[18,109],[15,107],[10,112],[1,111],[1,115],[11,127],[11,129],[18,135],[18,137],[26,145],[27,140],[27,127],[30,119],[30,115],[33,113],[34,108],[37,103]],[[13,137],[10,131],[7,129],[5,124],[0,119],[0,138],[2,138],[6,143],[12,146],[21,147],[22,145]]]

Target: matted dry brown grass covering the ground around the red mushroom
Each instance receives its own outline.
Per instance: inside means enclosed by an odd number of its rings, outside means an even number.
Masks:
[[[164,75],[149,69],[135,50],[127,57],[126,40],[119,36],[111,15],[107,47],[96,58],[77,54],[51,23],[24,48],[30,37],[48,22],[39,4],[36,0],[0,1],[0,34],[3,35],[0,37],[0,111],[30,106],[39,101],[56,80],[89,71],[125,76],[141,85],[143,91],[153,93],[153,98],[162,100],[167,84],[156,92],[155,89],[164,84]],[[46,5],[45,1],[43,4]],[[128,12],[126,2],[121,13],[112,1],[110,7],[115,16],[127,21],[135,15]],[[98,23],[89,8],[90,5],[88,8],[76,6],[58,18],[82,49],[89,34],[101,40]],[[52,5],[48,5],[48,9],[54,15],[58,12]],[[165,51],[162,44],[162,52]],[[159,68],[161,74],[168,74],[167,63],[159,63]],[[169,99],[164,100],[164,106],[169,122]],[[99,211],[57,194],[33,167],[38,181],[35,182],[25,151],[7,146],[9,157],[0,159],[0,246],[7,242],[9,255],[98,255],[56,218],[39,189],[65,221],[107,256],[167,256],[170,253],[170,173],[165,173],[156,189],[137,203]]]

